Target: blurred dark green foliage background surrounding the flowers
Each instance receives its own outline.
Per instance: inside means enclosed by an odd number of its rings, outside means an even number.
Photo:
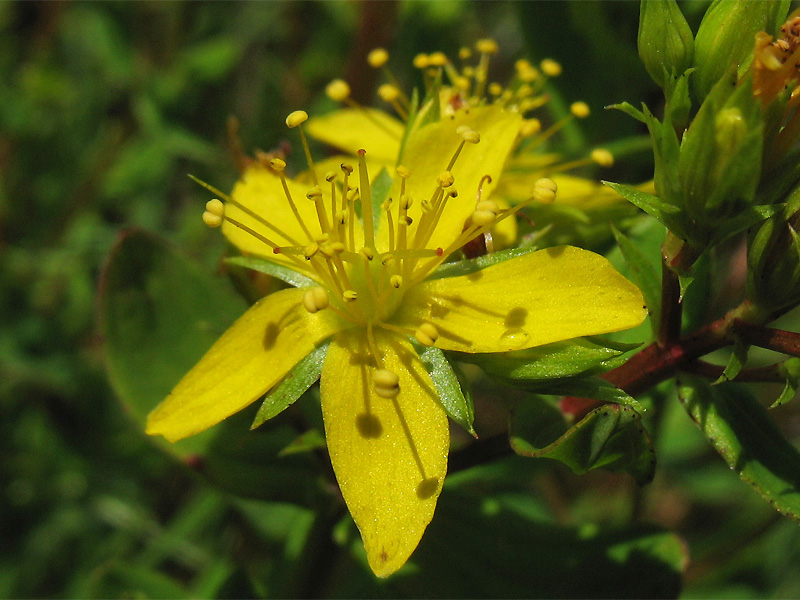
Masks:
[[[695,26],[706,6],[682,4]],[[216,269],[224,241],[202,225],[208,194],[186,175],[230,189],[229,116],[246,151],[269,150],[289,111],[333,107],[321,91],[334,77],[375,103],[373,47],[390,50],[410,87],[418,52],[452,56],[491,36],[501,81],[523,56],[563,64],[558,97],[594,109],[563,142],[578,152],[641,133],[601,107],[659,102],[637,24],[636,2],[0,3],[0,597],[676,594],[669,582],[619,585],[648,573],[622,559],[618,571],[583,571],[586,588],[568,576],[517,579],[531,563],[585,567],[592,544],[624,554],[597,531],[631,522],[680,535],[668,550],[684,597],[800,596],[797,524],[729,472],[675,402],[652,432],[660,467],[641,492],[624,475],[577,477],[544,460],[464,470],[448,479],[411,575],[378,582],[350,558],[357,539],[340,509],[209,485],[146,438],[107,380],[104,260],[135,227]],[[607,177],[639,181],[651,169],[640,152]],[[797,409],[783,414],[797,432]],[[515,532],[494,541],[517,562],[482,563],[495,526]],[[577,562],[552,566],[550,555]]]

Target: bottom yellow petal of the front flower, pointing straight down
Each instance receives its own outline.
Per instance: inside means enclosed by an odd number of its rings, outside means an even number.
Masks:
[[[405,564],[433,517],[447,471],[449,431],[433,383],[408,340],[376,332],[394,399],[373,391],[363,329],[336,336],[322,370],[328,450],[367,558],[379,577]]]

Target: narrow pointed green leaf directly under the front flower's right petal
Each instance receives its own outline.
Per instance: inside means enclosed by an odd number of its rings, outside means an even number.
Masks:
[[[491,377],[510,385],[537,385],[580,375],[603,373],[625,362],[623,355],[639,344],[595,337],[554,342],[535,348],[492,354],[459,354]]]

